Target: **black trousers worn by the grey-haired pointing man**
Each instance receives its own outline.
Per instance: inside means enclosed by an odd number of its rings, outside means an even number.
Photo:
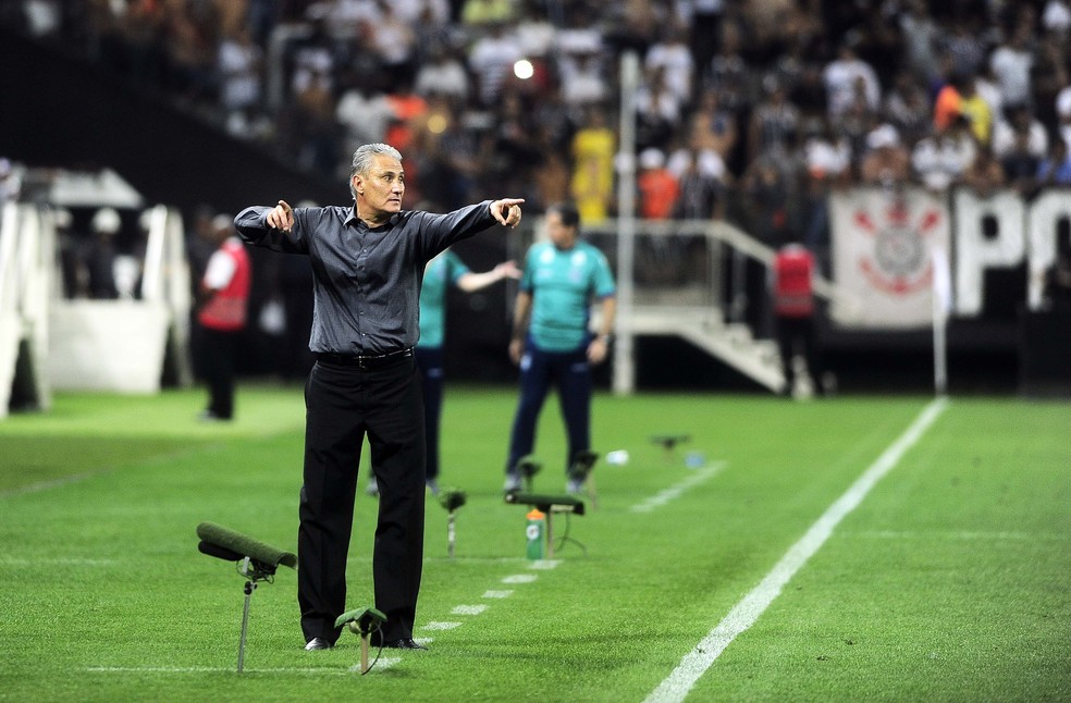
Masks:
[[[413,356],[376,369],[317,361],[305,386],[305,484],[297,599],[306,641],[334,642],[346,603],[357,468],[365,436],[379,483],[372,552],[376,607],[386,641],[413,637],[423,562],[424,429]]]

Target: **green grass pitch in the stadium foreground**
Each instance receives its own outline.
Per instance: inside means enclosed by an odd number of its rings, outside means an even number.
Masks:
[[[195,529],[296,548],[304,406],[298,387],[246,385],[235,422],[205,424],[202,400],[61,394],[0,421],[0,701],[674,700],[655,691],[933,402],[601,393],[595,495],[554,516],[568,539],[531,563],[527,508],[501,493],[516,388],[447,385],[442,483],[468,502],[454,558],[428,502],[430,651],[361,676],[356,636],[303,650],[286,568],[251,597],[236,673],[244,580]],[[677,693],[1071,700],[1069,435],[1067,402],[952,397]],[[616,449],[627,464],[605,461]],[[536,454],[536,490],[562,492],[553,396]],[[361,465],[348,607],[372,605]]]

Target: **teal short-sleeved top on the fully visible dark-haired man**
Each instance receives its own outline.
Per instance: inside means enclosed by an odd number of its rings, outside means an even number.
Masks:
[[[616,293],[603,252],[578,240],[561,250],[550,242],[533,244],[525,257],[520,289],[531,294],[529,336],[545,351],[571,351],[588,336],[592,300]]]

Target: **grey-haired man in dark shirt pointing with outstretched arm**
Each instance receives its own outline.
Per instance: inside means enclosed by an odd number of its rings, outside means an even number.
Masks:
[[[385,144],[354,153],[355,205],[251,207],[234,219],[243,239],[309,257],[317,362],[305,390],[305,477],[297,599],[306,649],[332,646],[346,609],[346,556],[361,444],[379,483],[372,555],[376,607],[387,616],[373,643],[413,640],[423,559],[424,429],[413,347],[424,264],[496,222],[516,226],[524,200],[471,205],[448,214],[402,210],[402,155]]]

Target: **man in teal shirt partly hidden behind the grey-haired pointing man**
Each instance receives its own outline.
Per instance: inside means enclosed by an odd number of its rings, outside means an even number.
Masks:
[[[424,432],[427,436],[427,484],[439,493],[439,428],[443,407],[443,344],[446,338],[446,293],[451,285],[475,293],[503,279],[519,279],[520,269],[504,261],[490,271],[473,273],[460,257],[446,249],[424,267],[420,287],[420,340],[414,350],[423,380]],[[369,480],[368,493],[376,495],[376,478]]]

